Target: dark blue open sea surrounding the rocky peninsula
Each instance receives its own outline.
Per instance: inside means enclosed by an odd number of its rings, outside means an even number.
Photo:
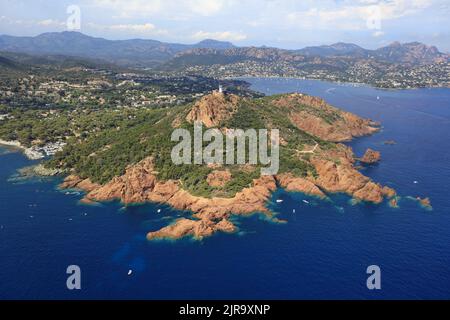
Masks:
[[[151,204],[80,205],[82,195],[58,191],[56,178],[12,179],[32,162],[1,149],[0,298],[449,299],[450,90],[250,81],[266,94],[305,92],[381,121],[382,132],[351,146],[357,155],[367,147],[382,152],[364,174],[394,187],[400,209],[279,190],[274,199],[284,202],[269,206],[287,224],[254,215],[236,220],[239,234],[147,242],[146,232],[185,213]],[[433,210],[407,196],[430,197]],[[66,289],[72,264],[81,267],[80,291]],[[366,288],[373,264],[381,268],[380,291]]]

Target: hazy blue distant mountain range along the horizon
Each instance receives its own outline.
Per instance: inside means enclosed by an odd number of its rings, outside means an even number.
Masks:
[[[192,45],[142,39],[106,40],[67,31],[44,33],[36,37],[2,35],[0,36],[0,51],[82,57],[128,67],[155,67],[164,63],[168,66],[196,65],[208,61],[208,63],[234,63],[248,59],[272,62],[277,60],[301,61],[312,57],[372,59],[415,65],[447,61],[449,58],[448,54],[439,52],[436,47],[419,42],[405,44],[395,42],[376,50],[364,49],[351,43],[284,50],[267,47],[238,48],[230,42],[210,39]]]

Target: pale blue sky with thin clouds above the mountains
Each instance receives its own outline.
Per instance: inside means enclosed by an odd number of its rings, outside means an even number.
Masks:
[[[289,49],[420,41],[450,51],[448,0],[0,0],[0,34],[67,30],[70,5],[80,9],[78,31],[107,39]]]

